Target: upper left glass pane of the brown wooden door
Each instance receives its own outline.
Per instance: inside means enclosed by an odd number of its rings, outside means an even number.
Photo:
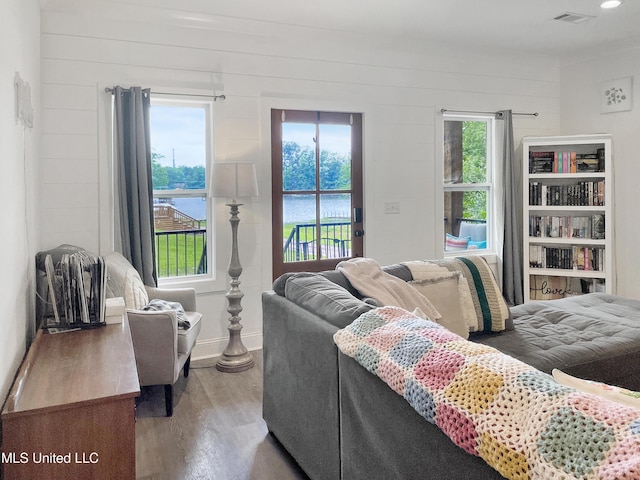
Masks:
[[[315,190],[315,137],[315,124],[282,124],[282,189],[285,192]]]

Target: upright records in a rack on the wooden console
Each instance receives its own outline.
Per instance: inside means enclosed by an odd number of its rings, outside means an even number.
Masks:
[[[92,326],[104,323],[107,268],[104,258],[79,250],[54,264],[44,259],[50,312],[42,326]]]

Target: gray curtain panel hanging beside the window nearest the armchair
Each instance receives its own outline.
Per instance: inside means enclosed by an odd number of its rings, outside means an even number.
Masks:
[[[122,254],[145,285],[156,286],[149,89],[114,89],[116,195]]]

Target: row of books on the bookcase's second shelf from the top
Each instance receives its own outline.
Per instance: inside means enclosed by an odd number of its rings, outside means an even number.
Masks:
[[[529,183],[529,205],[604,206],[604,180],[587,180],[570,185]]]

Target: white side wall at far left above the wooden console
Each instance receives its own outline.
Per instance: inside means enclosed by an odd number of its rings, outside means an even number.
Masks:
[[[33,259],[39,241],[35,208],[41,123],[40,4],[38,0],[2,0],[0,4],[0,401],[4,401],[34,328]],[[16,72],[31,86],[33,129],[15,120]]]

